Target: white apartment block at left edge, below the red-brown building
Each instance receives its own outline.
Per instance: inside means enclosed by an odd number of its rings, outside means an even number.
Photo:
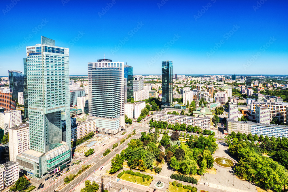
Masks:
[[[15,125],[22,122],[21,111],[4,111],[0,113],[0,127],[4,129],[5,124],[8,124],[8,127],[14,127]]]

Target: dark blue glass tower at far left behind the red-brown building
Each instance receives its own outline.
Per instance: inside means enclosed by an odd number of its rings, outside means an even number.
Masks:
[[[8,75],[12,99],[18,99],[18,92],[23,92],[24,90],[24,74],[21,71],[8,70]]]

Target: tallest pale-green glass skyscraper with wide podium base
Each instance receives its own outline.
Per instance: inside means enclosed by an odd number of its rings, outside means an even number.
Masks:
[[[27,46],[26,52],[30,149],[16,158],[21,172],[40,178],[71,161],[69,48],[41,36],[41,44]],[[66,111],[66,142],[61,110]]]

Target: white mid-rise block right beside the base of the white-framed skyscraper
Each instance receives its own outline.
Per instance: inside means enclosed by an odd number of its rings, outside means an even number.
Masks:
[[[137,119],[142,109],[146,107],[145,101],[139,101],[134,103],[125,103],[124,104],[124,114],[127,115],[128,118]]]

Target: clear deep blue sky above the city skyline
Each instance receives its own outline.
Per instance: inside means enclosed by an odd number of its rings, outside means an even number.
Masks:
[[[287,1],[2,0],[0,9],[0,76],[23,71],[41,35],[69,47],[70,75],[87,75],[103,53],[128,57],[134,74],[160,74],[162,60],[178,74],[288,73]]]

